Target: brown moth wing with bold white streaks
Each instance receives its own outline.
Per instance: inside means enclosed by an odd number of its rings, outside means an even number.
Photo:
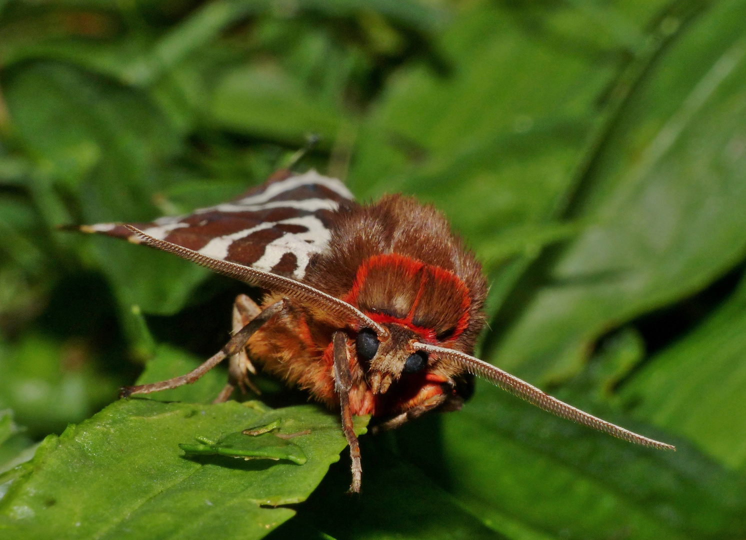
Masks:
[[[333,213],[353,200],[336,178],[309,171],[268,180],[233,201],[188,216],[83,225],[81,230],[140,243],[140,237],[125,227],[134,225],[149,236],[207,257],[301,280],[310,256],[327,245]]]

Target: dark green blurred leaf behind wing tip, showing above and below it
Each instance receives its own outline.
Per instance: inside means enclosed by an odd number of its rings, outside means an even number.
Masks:
[[[160,166],[178,143],[144,95],[42,63],[13,74],[7,101],[20,138],[37,160],[32,190],[50,225],[72,221],[60,183],[78,196],[83,222],[157,215],[153,194],[165,183]],[[207,275],[121,242],[98,240],[95,246],[93,254],[126,309],[136,304],[147,313],[175,313]]]

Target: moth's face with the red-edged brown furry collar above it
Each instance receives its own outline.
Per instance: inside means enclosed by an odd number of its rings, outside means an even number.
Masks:
[[[470,351],[481,319],[474,317],[478,304],[466,283],[454,272],[422,263],[401,254],[377,254],[364,260],[345,301],[383,327],[361,328],[355,339],[357,359],[374,394],[385,394],[401,382],[409,395],[436,366],[430,354],[415,344],[451,345]],[[471,332],[466,332],[469,327]],[[441,370],[443,371],[443,370]],[[451,374],[442,373],[442,382]]]

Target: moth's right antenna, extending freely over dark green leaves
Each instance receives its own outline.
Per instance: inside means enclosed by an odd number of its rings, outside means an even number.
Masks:
[[[648,437],[638,435],[630,430],[625,430],[624,427],[619,427],[611,422],[589,415],[587,412],[576,409],[574,406],[568,405],[564,401],[553,398],[551,395],[536,388],[536,386],[511,375],[507,371],[503,371],[501,368],[495,367],[495,365],[488,364],[483,360],[474,358],[466,353],[462,353],[461,351],[437,347],[436,345],[427,345],[426,343],[414,343],[413,346],[421,351],[427,351],[428,353],[439,354],[443,357],[451,358],[451,360],[455,360],[463,365],[469,373],[489,380],[489,382],[495,384],[495,386],[499,386],[501,389],[507,390],[507,392],[510,392],[513,395],[517,395],[518,398],[522,398],[530,404],[536,405],[545,411],[559,416],[560,418],[566,418],[577,422],[578,424],[592,427],[595,430],[609,433],[609,435],[618,437],[618,439],[624,439],[625,441],[634,442],[638,445],[658,448],[659,450],[676,450],[676,447],[667,445],[665,442],[648,439]]]

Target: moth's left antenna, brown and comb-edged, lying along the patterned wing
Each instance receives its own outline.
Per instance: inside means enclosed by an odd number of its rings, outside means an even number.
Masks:
[[[266,271],[257,270],[251,268],[251,266],[244,266],[231,263],[227,260],[207,257],[207,255],[198,253],[198,251],[184,248],[181,245],[172,242],[166,242],[166,240],[154,238],[153,236],[143,233],[142,230],[133,227],[132,225],[125,225],[125,227],[137,234],[137,236],[142,240],[142,243],[151,246],[151,248],[157,248],[178,255],[178,257],[181,257],[182,259],[189,260],[192,263],[197,263],[200,266],[216,271],[219,274],[233,277],[233,279],[243,281],[249,285],[280,292],[283,295],[288,295],[291,298],[297,298],[298,300],[306,301],[310,304],[321,304],[326,307],[332,315],[336,315],[338,318],[354,321],[355,325],[353,327],[355,330],[369,327],[372,328],[372,330],[374,330],[380,337],[388,335],[388,330],[386,330],[386,328],[375,322],[372,318],[369,318],[360,310],[357,310],[356,307],[351,306],[347,302],[335,298],[332,295],[327,295],[327,293],[319,291],[319,289],[314,289],[312,286],[306,285],[305,283],[278,274],[270,274]]]

